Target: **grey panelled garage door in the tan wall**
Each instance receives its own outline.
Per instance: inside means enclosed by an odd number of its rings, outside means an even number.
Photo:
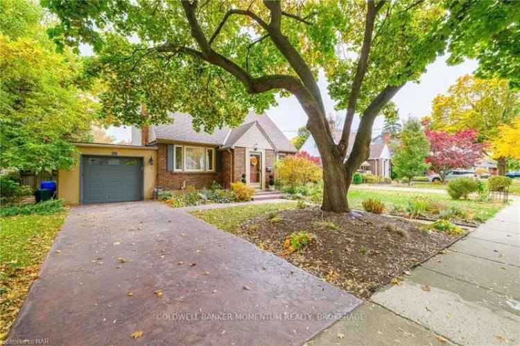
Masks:
[[[143,199],[141,157],[83,157],[83,203]]]

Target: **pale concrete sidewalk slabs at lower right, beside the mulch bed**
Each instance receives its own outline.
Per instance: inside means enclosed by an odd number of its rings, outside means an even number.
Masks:
[[[520,345],[518,200],[309,343],[451,344]]]

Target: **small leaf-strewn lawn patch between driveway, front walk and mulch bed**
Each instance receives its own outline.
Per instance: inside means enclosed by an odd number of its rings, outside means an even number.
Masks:
[[[294,209],[295,206],[295,202],[266,203],[261,205],[245,205],[223,209],[191,211],[190,214],[196,216],[196,218],[205,220],[207,223],[220,228],[220,230],[233,232],[238,225],[250,218],[254,218],[261,214],[267,214],[271,211]]]

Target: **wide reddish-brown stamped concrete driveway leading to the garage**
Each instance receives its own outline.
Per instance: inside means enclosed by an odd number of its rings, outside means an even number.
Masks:
[[[71,209],[8,339],[301,345],[358,304],[159,202],[89,205]]]

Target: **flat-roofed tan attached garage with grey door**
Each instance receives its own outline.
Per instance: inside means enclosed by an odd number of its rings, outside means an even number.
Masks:
[[[76,144],[78,163],[58,172],[58,197],[67,204],[126,202],[153,198],[157,148]]]

